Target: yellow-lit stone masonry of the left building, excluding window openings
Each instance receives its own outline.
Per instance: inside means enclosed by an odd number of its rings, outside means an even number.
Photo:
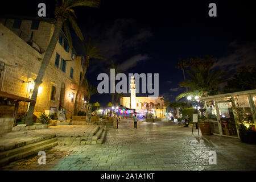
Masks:
[[[1,21],[0,21],[1,22]],[[10,23],[10,22],[9,22]],[[30,23],[24,22],[24,26],[30,27]],[[45,27],[44,27],[45,26]],[[36,31],[36,36],[42,35],[42,38],[38,38],[38,42],[43,43],[43,38],[48,43],[49,38],[44,37],[44,34],[52,35],[52,24],[47,22],[40,22],[39,30]],[[60,55],[59,68],[55,66],[56,52]],[[59,109],[59,102],[61,96],[61,87],[64,87],[64,102],[62,106],[73,113],[75,98],[72,101],[70,97],[72,93],[76,95],[78,84],[80,80],[81,68],[81,56],[75,56],[72,60],[71,49],[69,52],[57,42],[55,51],[49,61],[46,72],[44,73],[43,83],[40,85],[40,90],[36,100],[35,111],[44,112],[49,110],[50,107],[56,107],[56,111]],[[3,87],[2,91],[10,94],[15,94],[22,97],[29,97],[32,93],[30,92],[30,84],[28,81],[35,80],[40,65],[42,63],[44,54],[39,53],[30,45],[28,45],[23,39],[19,38],[13,31],[0,23],[0,60],[8,65],[18,64],[18,67],[5,67],[5,74],[1,74],[0,86]],[[61,58],[67,61],[66,71],[63,72],[60,69]],[[71,67],[73,68],[73,78],[70,77]],[[51,88],[56,87],[55,100],[51,100]],[[81,90],[77,105],[82,105],[83,90]],[[67,111],[67,117],[71,117],[71,113]]]

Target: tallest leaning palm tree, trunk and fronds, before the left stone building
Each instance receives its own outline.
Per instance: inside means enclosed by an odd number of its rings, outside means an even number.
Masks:
[[[51,59],[52,53],[55,49],[57,40],[59,39],[61,28],[64,27],[65,34],[67,35],[67,38],[68,38],[69,46],[71,48],[72,48],[72,40],[71,40],[71,33],[69,31],[68,22],[71,24],[76,35],[79,36],[81,40],[84,39],[79,26],[77,26],[77,23],[75,20],[76,15],[75,15],[75,11],[73,10],[73,7],[77,7],[77,6],[98,7],[99,5],[100,5],[99,0],[63,0],[63,1],[56,0],[55,28],[54,28],[51,40],[49,42],[49,45],[44,54],[44,58],[42,60],[42,64],[38,72],[38,76],[35,79],[34,91],[31,96],[32,100],[34,100],[35,102],[31,102],[30,107],[28,109],[27,117],[26,117],[27,125],[32,125],[33,123],[33,113],[35,109],[36,98],[38,96],[38,88],[39,88],[39,85],[42,84],[44,72],[46,71],[46,68],[49,64],[49,60]]]

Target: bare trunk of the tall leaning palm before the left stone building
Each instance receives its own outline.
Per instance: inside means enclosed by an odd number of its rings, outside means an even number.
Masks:
[[[44,54],[44,58],[38,72],[38,76],[35,79],[35,86],[31,96],[31,99],[34,100],[35,102],[31,102],[30,107],[28,109],[27,117],[26,117],[27,125],[32,125],[33,123],[33,113],[36,105],[36,98],[38,97],[38,88],[39,88],[39,85],[42,84],[43,82],[42,79],[44,76],[44,72],[46,72],[46,68],[48,66],[49,60],[51,59],[52,53],[55,50],[55,46],[56,46],[57,40],[59,39],[62,26],[63,26],[63,20],[57,19],[55,23],[55,29],[52,34],[52,38],[49,42],[49,46],[46,49],[46,53]]]

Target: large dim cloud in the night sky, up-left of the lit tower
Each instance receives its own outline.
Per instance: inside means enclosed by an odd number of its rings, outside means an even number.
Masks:
[[[143,28],[136,26],[137,22],[133,19],[117,19],[114,22],[107,24],[104,27],[96,26],[91,30],[86,30],[86,35],[97,43],[101,49],[102,55],[106,60],[97,60],[91,65],[89,72],[96,69],[105,70],[110,66],[111,61],[115,64],[119,61],[120,55],[131,49],[137,49],[139,44],[146,41],[152,33]],[[131,30],[133,29],[133,30]],[[147,55],[135,55],[130,59],[121,63],[127,69],[136,65],[138,61],[148,59]],[[131,61],[131,63],[127,62]]]

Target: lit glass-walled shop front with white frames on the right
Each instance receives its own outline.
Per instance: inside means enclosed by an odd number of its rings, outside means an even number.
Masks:
[[[242,109],[247,118],[250,118],[250,122],[245,126],[252,126],[255,129],[256,90],[203,97],[200,100],[204,103],[205,117],[208,118],[214,135],[238,137],[237,123],[240,121],[237,119],[234,106]]]

